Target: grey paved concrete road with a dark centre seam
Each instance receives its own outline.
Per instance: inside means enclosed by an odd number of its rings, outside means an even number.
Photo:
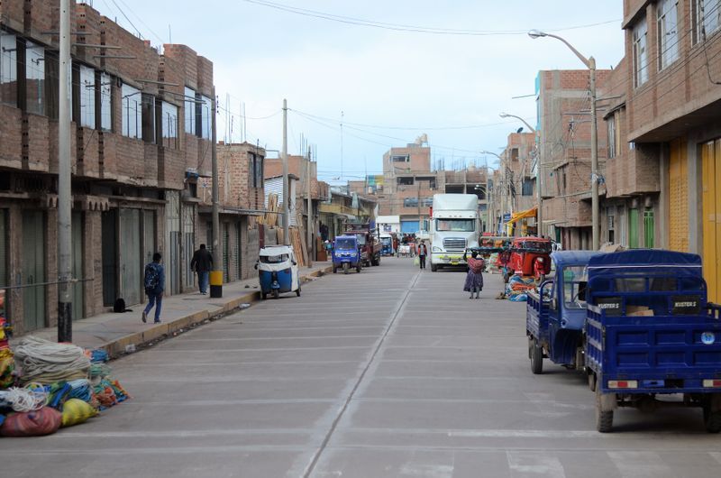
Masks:
[[[717,476],[698,409],[594,431],[574,372],[526,356],[525,304],[383,259],[115,362],[134,399],[51,437],[0,439],[3,476]]]

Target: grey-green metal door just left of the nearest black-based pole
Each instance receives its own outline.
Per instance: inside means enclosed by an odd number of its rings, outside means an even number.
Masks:
[[[45,326],[45,217],[23,211],[23,325],[26,332]]]

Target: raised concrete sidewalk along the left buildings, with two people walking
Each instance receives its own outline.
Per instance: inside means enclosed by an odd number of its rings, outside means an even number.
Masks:
[[[321,271],[332,271],[331,262],[314,262],[311,268],[301,268],[301,280],[305,282],[312,277],[318,277]],[[138,346],[163,336],[172,336],[180,329],[224,316],[240,308],[242,304],[250,304],[256,300],[260,300],[258,278],[224,284],[223,297],[219,299],[212,299],[209,295],[204,296],[198,292],[169,296],[163,299],[161,324],[153,324],[152,315],[148,317],[148,323],[143,324],[141,313],[145,304],[138,304],[131,307],[132,312],[108,312],[76,320],[73,322],[73,344],[90,349],[102,348],[111,357],[116,357],[125,352],[126,345]],[[27,335],[56,341],[58,329],[41,328]],[[11,340],[11,346],[19,338]]]

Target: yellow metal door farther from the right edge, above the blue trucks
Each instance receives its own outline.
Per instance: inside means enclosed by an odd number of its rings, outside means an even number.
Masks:
[[[689,170],[686,142],[671,142],[669,158],[669,249],[689,252]]]

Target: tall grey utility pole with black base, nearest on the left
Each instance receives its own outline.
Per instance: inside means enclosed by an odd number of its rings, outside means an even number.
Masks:
[[[72,178],[70,175],[70,0],[60,0],[58,117],[58,342],[72,342]]]

